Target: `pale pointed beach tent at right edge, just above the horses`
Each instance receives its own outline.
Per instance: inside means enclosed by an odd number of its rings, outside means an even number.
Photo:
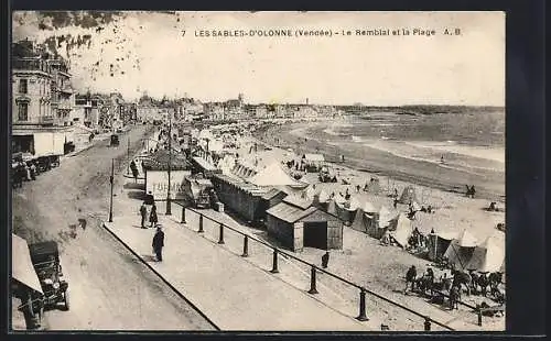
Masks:
[[[465,268],[493,273],[500,271],[504,261],[505,245],[495,238],[488,237],[484,243],[475,248],[473,256]]]

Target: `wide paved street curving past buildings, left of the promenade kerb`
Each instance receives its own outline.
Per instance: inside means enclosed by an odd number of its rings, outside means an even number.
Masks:
[[[147,130],[151,132],[145,125],[136,127],[120,136],[118,147],[100,141],[13,191],[13,232],[30,243],[54,239],[62,244],[72,306],[71,311],[47,311],[47,329],[214,329],[100,226],[109,211],[111,158],[116,158],[117,194],[126,173],[128,136],[133,154]]]

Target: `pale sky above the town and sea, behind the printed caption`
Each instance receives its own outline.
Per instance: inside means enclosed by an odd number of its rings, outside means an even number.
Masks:
[[[13,41],[91,34],[69,52],[74,87],[136,99],[505,106],[503,12],[125,12],[97,28],[39,29],[15,12]],[[460,35],[444,35],[449,29]],[[389,30],[389,36],[356,30]],[[410,35],[392,35],[393,30]],[[413,34],[414,29],[436,35]],[[328,36],[201,37],[206,30],[324,30]],[[185,35],[184,35],[185,31]],[[336,32],[350,31],[350,36]],[[64,43],[61,45],[64,47]]]

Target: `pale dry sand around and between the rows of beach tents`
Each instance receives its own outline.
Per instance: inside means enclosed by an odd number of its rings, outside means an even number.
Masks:
[[[284,129],[279,128],[280,131]],[[284,134],[284,133],[283,133]],[[280,136],[283,136],[280,135]],[[292,135],[292,134],[289,134]],[[281,138],[282,139],[282,138]],[[280,140],[281,140],[280,139]],[[264,141],[270,140],[264,136]],[[257,160],[259,168],[272,162],[287,161],[293,156],[293,153],[282,147],[273,146],[271,150],[261,150],[257,153],[249,153],[248,148],[250,143],[259,141],[250,139],[249,142],[244,143],[241,153],[244,160]],[[296,148],[294,150],[296,151]],[[388,197],[393,188],[398,189],[401,194],[406,186],[413,185],[417,191],[418,200],[421,205],[432,205],[435,207],[435,213],[419,212],[417,219],[412,221],[412,226],[417,227],[421,233],[429,233],[431,229],[437,232],[457,232],[463,230],[471,232],[479,243],[484,242],[487,238],[491,238],[505,248],[505,233],[496,229],[496,224],[505,222],[505,212],[488,212],[484,210],[488,206],[488,200],[485,198],[466,198],[462,194],[452,193],[449,190],[441,190],[434,187],[419,185],[418,182],[404,182],[392,177],[382,176],[380,174],[358,170],[348,167],[344,164],[333,164],[333,167],[339,178],[338,183],[320,183],[316,173],[305,174],[301,180],[310,184],[315,184],[317,190],[324,189],[326,193],[345,193],[346,189],[352,194],[352,198],[358,200],[364,205],[371,202],[377,209],[381,206],[387,207],[391,215],[399,212],[407,212],[407,205],[398,205],[395,209],[392,207],[392,199]],[[356,185],[361,187],[369,182],[371,177],[378,177],[382,187],[379,195],[374,195],[360,190],[356,193]],[[341,179],[346,178],[350,185],[343,185]],[[503,207],[503,206],[501,206]],[[257,231],[258,232],[258,231]],[[305,248],[298,255],[310,262],[318,262],[322,250]],[[369,289],[380,293],[386,297],[400,301],[401,304],[415,309],[424,311],[431,316],[439,316],[440,307],[431,305],[425,299],[417,295],[404,296],[401,290],[403,289],[403,275],[409,266],[415,265],[422,273],[431,265],[426,260],[415,256],[397,246],[380,245],[379,241],[350,228],[344,229],[344,248],[343,250],[332,251],[332,266],[331,271],[334,273],[349,278],[356,283],[366,285]],[[436,276],[442,273],[436,271]],[[332,290],[342,293],[343,297],[346,288],[338,283],[332,283],[329,278],[321,279]],[[354,296],[350,296],[354,300]],[[477,305],[482,301],[490,306],[496,304],[488,298],[480,296],[469,296],[463,298],[466,302]],[[352,301],[350,301],[352,302]],[[414,316],[400,311],[396,307],[391,307],[385,302],[371,299],[369,302],[371,314],[377,314],[381,320],[387,320],[392,324],[395,330],[415,330],[419,329],[419,320]],[[455,319],[465,322],[471,327],[457,327],[461,330],[471,329],[476,330],[473,323],[476,323],[476,315],[466,308],[462,308],[452,314]],[[454,320],[446,321],[451,324],[457,323]],[[504,330],[505,317],[485,318],[484,330]]]

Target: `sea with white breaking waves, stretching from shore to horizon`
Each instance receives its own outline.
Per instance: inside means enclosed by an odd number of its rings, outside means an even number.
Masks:
[[[306,139],[304,147],[313,142],[320,152],[341,153],[357,167],[364,164],[370,170],[444,187],[477,185],[503,197],[505,117],[505,109],[417,116],[368,112],[298,125],[290,134]]]

